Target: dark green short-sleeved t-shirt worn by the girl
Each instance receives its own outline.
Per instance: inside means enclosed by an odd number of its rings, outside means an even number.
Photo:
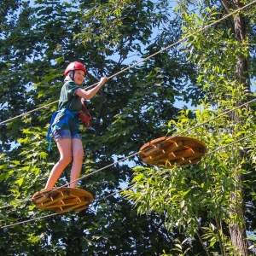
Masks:
[[[71,78],[67,77],[65,80],[65,84],[63,84],[62,88],[61,88],[61,96],[60,96],[60,100],[59,100],[59,110],[61,109],[67,109],[68,111],[71,112],[77,112],[82,110],[82,103],[81,103],[81,97],[77,96],[75,94],[76,90],[78,90],[80,87],[78,84],[76,84]],[[62,119],[65,116],[65,113],[63,112],[59,112],[56,117],[55,120],[52,124],[52,126],[54,126],[56,123],[58,123],[58,121],[60,119]],[[73,125],[75,125],[75,123],[78,120],[70,120],[70,123],[73,123]],[[72,126],[73,126],[72,125]],[[63,124],[61,125],[60,129],[69,129],[69,127],[67,126],[67,124]]]

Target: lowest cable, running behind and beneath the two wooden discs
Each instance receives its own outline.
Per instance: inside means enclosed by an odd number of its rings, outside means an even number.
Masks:
[[[247,137],[243,137],[243,138],[241,138],[241,139],[239,139],[239,140],[236,140],[236,141],[234,141],[234,142],[232,142],[232,143],[228,143],[227,145],[224,145],[223,147],[216,148],[216,149],[212,150],[211,152],[208,152],[207,154],[212,154],[213,152],[215,152],[215,151],[217,151],[217,150],[230,147],[230,145],[233,145],[233,144],[235,144],[235,143],[239,143],[239,142],[241,142],[241,141],[243,141],[243,140],[246,140],[246,139],[249,138],[249,137],[253,137],[253,136],[255,136],[255,135],[256,135],[256,132],[253,133],[253,134],[251,134],[251,135],[249,135],[249,136],[247,136]],[[167,171],[167,172],[169,172],[169,171]],[[113,196],[113,195],[116,195],[116,194],[118,194],[118,193],[120,193],[120,192],[122,192],[122,191],[124,191],[124,190],[126,190],[126,189],[131,189],[132,187],[134,187],[134,185],[130,185],[130,186],[126,187],[125,189],[119,189],[119,190],[113,192],[112,194],[109,194],[109,195],[107,195],[107,196],[104,196],[104,197],[102,197],[102,198],[96,200],[96,201],[93,201],[93,202],[91,203],[91,205],[95,204],[96,202],[106,200],[108,197]],[[28,222],[36,221],[36,220],[43,219],[43,218],[52,217],[52,216],[59,215],[59,214],[61,214],[61,213],[52,213],[52,214],[49,214],[49,215],[44,215],[43,217],[32,218],[32,219],[28,219],[28,220],[16,222],[16,223],[13,223],[13,224],[7,224],[7,225],[4,225],[4,226],[0,226],[0,230],[6,229],[6,228],[9,228],[9,227],[18,225],[18,224],[26,224],[26,223],[28,223]]]

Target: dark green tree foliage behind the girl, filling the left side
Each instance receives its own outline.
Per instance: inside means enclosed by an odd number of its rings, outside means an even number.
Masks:
[[[47,151],[45,137],[67,63],[84,62],[90,73],[86,86],[102,75],[119,72],[127,63],[179,37],[171,7],[166,1],[38,0],[32,6],[28,1],[5,2],[1,13],[1,121],[26,114],[1,125],[1,252],[152,255],[170,251],[172,234],[163,224],[164,216],[137,216],[137,209],[120,195],[107,197],[130,182],[131,163],[139,163],[138,159],[79,181],[81,188],[99,200],[88,211],[35,221],[49,212],[38,210],[31,198],[44,188],[59,157],[55,143],[52,152]],[[178,70],[183,66],[184,73]],[[166,133],[163,124],[177,114],[173,104],[181,96],[184,79],[193,75],[177,51],[155,56],[130,71],[110,79],[88,103],[96,131],[82,128],[85,156],[81,177]],[[36,108],[40,109],[33,111]],[[69,170],[70,166],[57,185],[68,182]],[[26,220],[33,221],[19,224]],[[12,223],[16,224],[2,228]]]

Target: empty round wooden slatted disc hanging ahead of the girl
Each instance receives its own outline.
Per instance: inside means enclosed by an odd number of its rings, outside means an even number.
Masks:
[[[201,160],[207,147],[191,137],[160,137],[139,151],[139,157],[148,165],[191,166]]]

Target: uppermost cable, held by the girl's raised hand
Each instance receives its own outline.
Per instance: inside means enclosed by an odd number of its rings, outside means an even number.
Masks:
[[[155,52],[153,55],[149,55],[149,56],[146,57],[145,59],[142,59],[141,61],[137,61],[137,62],[134,63],[133,65],[131,65],[131,66],[129,66],[129,67],[126,67],[125,69],[119,71],[118,73],[114,73],[113,75],[111,75],[110,77],[108,77],[108,79],[112,79],[113,77],[119,75],[120,73],[124,73],[125,71],[131,69],[132,67],[135,67],[135,66],[137,66],[138,64],[142,63],[143,61],[147,61],[148,59],[154,57],[155,55],[160,54],[161,52],[165,51],[166,49],[172,48],[173,46],[175,46],[175,45],[177,45],[177,44],[183,42],[184,40],[190,38],[191,36],[194,36],[194,35],[196,35],[197,33],[200,33],[200,32],[202,32],[202,31],[206,30],[208,27],[213,26],[213,25],[216,25],[217,23],[219,23],[219,22],[221,22],[221,21],[227,19],[227,18],[230,17],[231,15],[235,15],[236,13],[240,12],[242,9],[246,9],[247,7],[253,5],[254,3],[256,3],[256,0],[253,0],[253,2],[247,3],[246,5],[242,6],[241,8],[236,9],[236,10],[234,10],[233,12],[230,12],[230,14],[228,14],[228,15],[224,15],[224,17],[220,18],[219,20],[216,20],[216,21],[212,22],[211,24],[209,24],[209,25],[207,25],[207,26],[202,27],[201,29],[199,29],[198,31],[196,31],[196,32],[194,32],[194,33],[189,34],[189,36],[186,36],[186,37],[184,37],[184,38],[181,38],[181,39],[177,40],[177,42],[168,45],[166,48],[160,49],[159,51]],[[96,84],[98,84],[98,83],[96,83]],[[91,87],[96,86],[96,84],[91,84],[90,86],[84,88],[84,90],[88,90],[88,89],[90,89]],[[6,120],[0,122],[0,125],[3,125],[3,124],[5,124],[5,123],[8,123],[10,120],[20,118],[20,117],[22,117],[22,116],[24,116],[24,115],[26,115],[26,114],[28,114],[28,113],[36,112],[36,111],[38,111],[38,110],[41,109],[41,108],[46,108],[46,107],[48,107],[49,105],[54,104],[54,103],[56,103],[56,102],[58,102],[58,100],[55,101],[55,102],[50,102],[49,104],[44,105],[44,107],[35,108],[35,109],[33,109],[33,110],[31,110],[31,111],[28,111],[28,112],[26,112],[26,113],[21,113],[20,115],[15,116],[15,117],[13,117],[13,118],[6,119]]]

